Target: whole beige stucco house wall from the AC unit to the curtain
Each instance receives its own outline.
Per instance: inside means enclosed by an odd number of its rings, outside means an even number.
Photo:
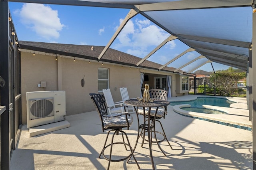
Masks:
[[[120,87],[129,97],[140,97],[140,70],[101,62],[21,52],[22,124],[26,124],[26,92],[66,91],[66,115],[94,111],[89,93],[98,93],[98,67],[109,69],[109,88],[114,102],[121,101]],[[85,80],[84,87],[81,79]],[[46,88],[38,87],[46,81]],[[60,85],[61,83],[61,85]],[[115,90],[116,89],[116,90]]]

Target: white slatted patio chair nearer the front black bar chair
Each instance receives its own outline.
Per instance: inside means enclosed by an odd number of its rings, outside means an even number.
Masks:
[[[124,111],[122,107],[123,101],[114,103],[110,89],[102,89],[102,91],[104,94],[109,114],[120,113]]]

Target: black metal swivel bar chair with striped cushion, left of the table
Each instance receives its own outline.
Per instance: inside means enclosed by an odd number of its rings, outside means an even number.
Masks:
[[[100,116],[100,120],[101,120],[101,124],[102,124],[102,131],[104,132],[105,130],[109,130],[108,134],[106,136],[106,140],[105,140],[104,146],[102,148],[102,151],[100,152],[100,156],[103,155],[103,157],[106,160],[108,160],[108,169],[109,169],[109,166],[110,166],[110,162],[124,161],[124,160],[130,158],[131,156],[134,158],[138,168],[140,169],[140,166],[139,166],[136,158],[134,157],[132,146],[130,145],[128,136],[127,136],[126,132],[124,132],[122,130],[122,128],[127,128],[129,130],[129,127],[133,123],[133,117],[128,112],[114,113],[114,114],[108,115],[108,112],[107,112],[107,109],[106,109],[106,105],[105,105],[101,95],[100,94],[96,94],[96,93],[90,93],[89,95],[90,95],[90,97],[91,97],[91,99],[92,99],[92,101],[94,103],[94,106],[96,107],[96,110],[97,110],[97,112],[98,112],[98,114]],[[124,107],[124,110],[126,111],[126,107],[127,106],[122,106],[122,107]],[[108,140],[108,135],[112,131],[114,133],[112,134],[111,144],[106,145],[107,140]],[[114,141],[114,136],[118,135],[120,132],[122,133],[123,142],[113,142]],[[124,135],[126,136],[127,143],[124,141]],[[125,158],[111,159],[112,148],[113,148],[114,144],[124,144],[125,148],[126,148],[126,146],[129,146],[131,154],[129,154]],[[104,154],[104,150],[108,146],[110,146],[109,158],[106,157],[105,154]],[[127,148],[126,148],[126,150],[127,150]],[[100,158],[100,156],[98,158]],[[128,162],[128,161],[129,161],[129,159],[126,162]]]

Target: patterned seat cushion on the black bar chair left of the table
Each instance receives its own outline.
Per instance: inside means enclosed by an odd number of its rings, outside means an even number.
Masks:
[[[124,112],[124,113],[128,113],[128,112]],[[108,117],[106,117],[103,121],[104,124],[104,128],[108,128],[108,127],[128,127],[127,125],[127,121],[126,121],[126,116],[125,115],[121,115],[118,117],[113,117],[116,115],[120,115],[119,113],[113,113],[111,115],[108,115]],[[129,126],[132,125],[133,122],[133,117],[132,116],[127,116],[128,118],[128,122],[129,122]]]

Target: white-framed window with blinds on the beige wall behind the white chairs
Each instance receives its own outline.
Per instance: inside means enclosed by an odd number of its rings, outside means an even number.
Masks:
[[[106,68],[98,68],[98,92],[109,87],[109,71]]]

